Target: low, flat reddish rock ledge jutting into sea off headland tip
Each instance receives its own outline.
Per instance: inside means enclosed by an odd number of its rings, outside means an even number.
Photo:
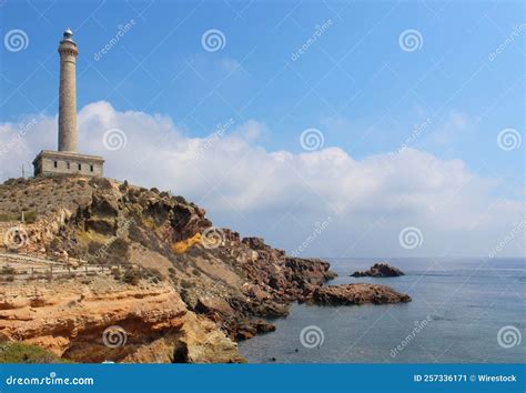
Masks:
[[[316,304],[390,304],[411,302],[409,295],[377,284],[346,284],[317,288],[312,298]]]

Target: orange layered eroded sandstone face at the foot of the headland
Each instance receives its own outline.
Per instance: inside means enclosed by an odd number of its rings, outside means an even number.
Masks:
[[[82,363],[243,362],[234,342],[189,311],[166,284],[115,284],[93,278],[2,289],[0,331]],[[179,354],[186,353],[182,359]],[[179,356],[179,357],[178,357]]]

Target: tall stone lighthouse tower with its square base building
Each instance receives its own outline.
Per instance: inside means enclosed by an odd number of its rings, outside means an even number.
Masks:
[[[78,152],[77,57],[79,48],[71,29],[59,43],[59,143],[58,150],[42,150],[33,160],[34,175],[79,174],[102,177],[104,159]]]

